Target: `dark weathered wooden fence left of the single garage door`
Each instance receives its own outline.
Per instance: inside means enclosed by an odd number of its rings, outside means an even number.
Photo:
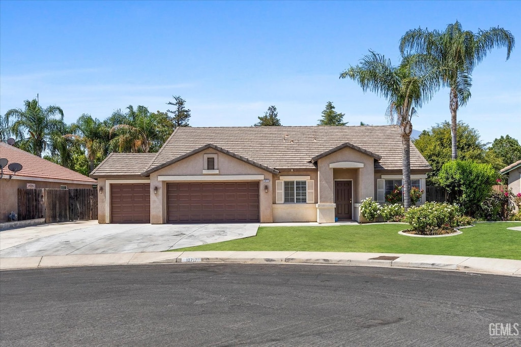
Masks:
[[[45,223],[97,220],[97,190],[18,189],[18,220]]]

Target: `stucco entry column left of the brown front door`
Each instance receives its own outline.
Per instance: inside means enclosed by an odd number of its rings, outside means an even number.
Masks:
[[[329,168],[329,162],[319,160],[317,222],[334,223],[335,207],[333,169]]]

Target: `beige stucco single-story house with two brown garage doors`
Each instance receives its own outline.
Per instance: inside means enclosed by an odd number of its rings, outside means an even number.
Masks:
[[[413,186],[429,171],[411,143]],[[363,199],[401,185],[402,139],[393,126],[178,127],[158,153],[111,153],[91,177],[100,223],[358,221]]]

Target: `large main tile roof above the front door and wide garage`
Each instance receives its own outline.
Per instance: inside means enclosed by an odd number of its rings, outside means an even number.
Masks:
[[[334,147],[349,142],[381,156],[375,169],[402,169],[400,128],[382,126],[250,126],[178,127],[148,169],[206,144],[215,144],[269,168],[314,169],[310,162]],[[411,169],[431,166],[411,143]]]

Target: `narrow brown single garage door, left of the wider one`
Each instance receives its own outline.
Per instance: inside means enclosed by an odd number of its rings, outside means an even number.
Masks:
[[[111,223],[150,223],[150,183],[110,185]]]

